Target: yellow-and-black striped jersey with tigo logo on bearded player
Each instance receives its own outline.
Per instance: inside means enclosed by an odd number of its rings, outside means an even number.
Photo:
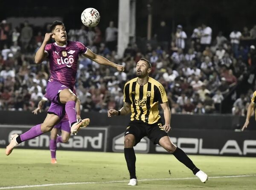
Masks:
[[[166,91],[160,82],[149,77],[145,85],[137,82],[138,77],[126,82],[124,102],[131,104],[131,121],[140,120],[153,124],[160,119],[158,102],[168,102]]]

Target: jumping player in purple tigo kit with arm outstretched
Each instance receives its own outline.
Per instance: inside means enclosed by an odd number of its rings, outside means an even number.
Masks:
[[[45,59],[49,59],[51,77],[47,84],[47,99],[52,103],[48,114],[42,124],[35,125],[27,132],[11,136],[11,142],[6,147],[6,155],[12,153],[14,147],[29,139],[33,139],[52,130],[64,113],[67,113],[71,124],[71,133],[86,127],[90,119],[76,121],[76,95],[72,92],[76,81],[77,63],[79,54],[99,63],[100,65],[109,65],[118,71],[123,71],[124,66],[117,65],[105,57],[94,54],[82,43],[67,41],[67,32],[64,23],[54,21],[50,27],[51,32],[46,33],[41,47],[35,54],[35,63],[39,64]],[[47,44],[53,38],[55,43]]]

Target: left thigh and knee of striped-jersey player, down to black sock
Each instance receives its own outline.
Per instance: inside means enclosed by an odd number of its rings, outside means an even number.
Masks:
[[[146,136],[144,126],[140,123],[129,123],[125,130],[125,147],[136,146],[144,136]]]

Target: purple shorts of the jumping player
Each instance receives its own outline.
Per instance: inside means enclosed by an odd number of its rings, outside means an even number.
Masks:
[[[55,114],[60,119],[64,117],[65,104],[61,104],[58,94],[65,88],[68,88],[68,87],[57,81],[49,81],[46,87],[47,94],[45,97],[50,101],[52,101],[47,113]]]

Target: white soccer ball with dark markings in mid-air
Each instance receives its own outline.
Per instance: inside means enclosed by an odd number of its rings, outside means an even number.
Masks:
[[[87,27],[95,27],[99,24],[99,11],[94,8],[87,8],[81,14],[81,21]]]

